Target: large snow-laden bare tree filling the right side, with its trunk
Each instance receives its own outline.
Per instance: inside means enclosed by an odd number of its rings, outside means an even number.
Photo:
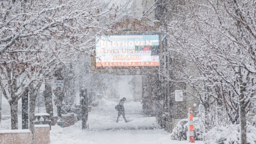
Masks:
[[[247,139],[247,113],[255,102],[255,2],[189,0],[185,19],[169,24],[171,50],[197,68],[180,77],[200,102],[212,97],[232,123],[240,123],[241,144]],[[211,104],[205,101],[206,104]]]

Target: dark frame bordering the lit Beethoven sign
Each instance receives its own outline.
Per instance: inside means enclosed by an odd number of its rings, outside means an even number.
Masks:
[[[158,31],[114,31],[111,35],[159,35],[159,66],[161,59],[161,33]],[[95,50],[95,47],[93,47]],[[96,57],[91,58],[92,71],[157,71],[159,66],[113,66],[113,67],[96,67]]]

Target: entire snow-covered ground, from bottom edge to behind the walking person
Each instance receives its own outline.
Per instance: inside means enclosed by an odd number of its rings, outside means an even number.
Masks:
[[[65,128],[52,126],[50,144],[188,144],[187,141],[171,140],[170,133],[160,129],[155,117],[143,116],[140,102],[126,101],[124,107],[129,122],[125,123],[121,116],[116,123],[118,112],[114,107],[118,103],[119,99],[102,99],[99,106],[92,107],[88,116],[89,129],[82,130],[81,121]],[[10,119],[2,120],[0,130],[10,129],[10,126]]]

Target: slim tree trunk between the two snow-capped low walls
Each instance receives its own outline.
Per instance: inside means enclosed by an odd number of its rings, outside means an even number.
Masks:
[[[31,132],[30,143],[35,144],[35,108],[36,95],[34,90],[29,92],[29,130]]]

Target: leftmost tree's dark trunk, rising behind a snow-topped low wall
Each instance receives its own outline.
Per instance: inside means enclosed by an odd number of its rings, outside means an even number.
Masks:
[[[10,102],[11,106],[11,129],[18,130],[18,101]]]

